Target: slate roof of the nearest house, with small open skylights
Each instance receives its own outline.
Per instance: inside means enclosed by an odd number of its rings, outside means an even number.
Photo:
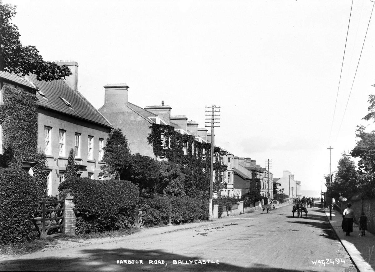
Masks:
[[[34,90],[39,90],[36,91],[36,98],[37,104],[40,107],[102,126],[112,127],[111,123],[81,93],[72,90],[64,80],[37,81],[35,75],[23,77],[5,72],[0,72],[0,78],[16,82]],[[68,106],[60,97],[66,99],[71,106]]]

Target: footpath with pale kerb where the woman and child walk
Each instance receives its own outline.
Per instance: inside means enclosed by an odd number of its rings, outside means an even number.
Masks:
[[[366,231],[366,235],[361,236],[359,226],[354,224],[353,232],[350,233],[350,236],[345,236],[345,232],[342,231],[341,227],[341,213],[332,210],[332,220],[329,220],[329,209],[325,209],[325,213],[333,230],[335,230],[336,235],[358,270],[360,272],[375,271],[375,235]]]

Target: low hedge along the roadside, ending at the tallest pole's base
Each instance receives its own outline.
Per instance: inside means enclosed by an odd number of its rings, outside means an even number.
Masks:
[[[154,195],[152,199],[142,198],[139,208],[142,209],[143,223],[148,227],[168,224],[170,212],[172,224],[208,219],[208,200],[192,197]]]

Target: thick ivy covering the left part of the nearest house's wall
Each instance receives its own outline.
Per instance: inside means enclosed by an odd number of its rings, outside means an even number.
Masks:
[[[1,89],[3,104],[0,106],[2,121],[2,167],[21,168],[23,162],[33,166],[33,179],[39,197],[46,194],[46,157],[37,151],[38,108],[32,91],[4,85]]]

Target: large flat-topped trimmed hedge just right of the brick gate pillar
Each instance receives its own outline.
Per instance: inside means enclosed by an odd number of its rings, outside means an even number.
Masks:
[[[59,190],[74,196],[77,233],[129,229],[134,223],[139,190],[129,181],[75,178]]]

